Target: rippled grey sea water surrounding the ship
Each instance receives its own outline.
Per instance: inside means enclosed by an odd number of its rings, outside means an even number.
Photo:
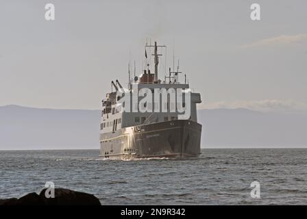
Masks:
[[[306,204],[307,149],[205,149],[198,159],[110,161],[98,150],[0,151],[0,196],[56,187],[95,194],[104,205]],[[280,158],[282,157],[282,159]],[[261,198],[250,198],[259,181]]]

